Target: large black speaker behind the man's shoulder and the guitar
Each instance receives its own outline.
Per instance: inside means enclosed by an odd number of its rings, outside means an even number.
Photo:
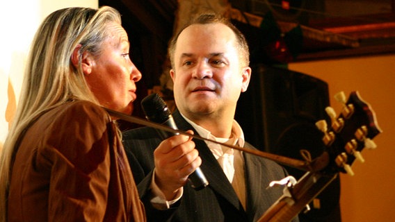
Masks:
[[[235,119],[245,141],[261,151],[303,160],[300,150],[319,156],[325,146],[315,123],[328,121],[328,84],[289,69],[251,65],[248,90],[241,94]],[[296,179],[304,171],[284,166]],[[318,197],[320,207],[299,215],[300,221],[341,221],[340,181],[335,179]]]

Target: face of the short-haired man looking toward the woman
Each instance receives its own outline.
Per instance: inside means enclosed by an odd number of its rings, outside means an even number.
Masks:
[[[250,80],[241,67],[236,36],[224,24],[194,24],[179,35],[174,81],[177,108],[188,118],[234,114],[240,93]]]

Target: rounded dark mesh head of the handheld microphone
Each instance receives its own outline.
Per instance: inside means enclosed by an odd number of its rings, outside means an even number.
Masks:
[[[141,106],[145,113],[145,117],[155,123],[163,123],[171,117],[168,105],[166,105],[159,94],[154,93],[145,96],[141,101]]]

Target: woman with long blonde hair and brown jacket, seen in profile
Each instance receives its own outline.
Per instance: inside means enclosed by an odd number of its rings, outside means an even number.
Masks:
[[[0,156],[0,221],[145,221],[115,119],[140,71],[110,7],[64,8],[33,40]]]

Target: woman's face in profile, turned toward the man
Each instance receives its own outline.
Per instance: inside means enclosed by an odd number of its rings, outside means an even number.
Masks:
[[[141,74],[129,58],[129,40],[119,24],[108,27],[111,36],[102,44],[102,53],[91,58],[86,80],[99,103],[106,108],[131,114],[136,99],[136,82]]]

